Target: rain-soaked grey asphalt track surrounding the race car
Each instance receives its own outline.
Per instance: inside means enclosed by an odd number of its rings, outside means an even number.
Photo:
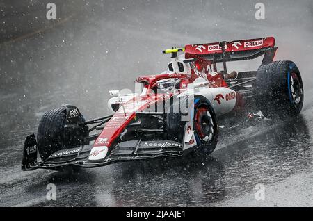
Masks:
[[[0,44],[0,206],[313,205],[311,1],[264,1],[265,21],[255,20],[253,1],[66,1],[57,22],[40,17],[45,6],[33,2],[30,9],[0,4],[7,11]],[[39,22],[30,23],[33,17]],[[42,32],[29,34],[36,30]],[[305,106],[297,119],[221,129],[211,156],[74,174],[20,170],[24,137],[45,111],[74,104],[86,118],[105,115],[109,90],[134,90],[136,76],[163,71],[168,57],[162,49],[266,35],[277,39],[276,59],[294,60],[303,75]],[[48,183],[56,185],[56,201],[45,198]],[[265,187],[264,201],[255,200],[257,184]]]

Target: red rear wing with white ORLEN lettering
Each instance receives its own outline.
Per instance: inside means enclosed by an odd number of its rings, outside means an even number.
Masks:
[[[203,57],[214,63],[234,60],[250,60],[264,55],[262,65],[273,61],[275,38],[257,38],[235,40],[232,42],[214,42],[207,44],[188,44],[185,46],[185,58]]]

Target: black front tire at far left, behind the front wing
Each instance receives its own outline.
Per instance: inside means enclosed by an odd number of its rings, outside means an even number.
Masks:
[[[80,145],[80,130],[65,131],[66,109],[57,108],[42,116],[37,133],[38,152],[42,161],[61,149]],[[81,116],[81,121],[84,121]]]

